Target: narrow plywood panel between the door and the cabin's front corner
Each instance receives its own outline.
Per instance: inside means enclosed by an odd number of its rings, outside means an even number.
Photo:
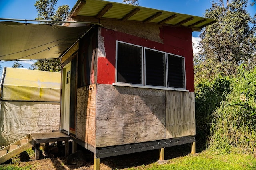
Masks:
[[[95,147],[96,84],[77,89],[76,138]]]

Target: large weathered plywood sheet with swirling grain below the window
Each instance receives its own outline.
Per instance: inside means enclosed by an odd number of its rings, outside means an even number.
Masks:
[[[97,84],[96,147],[164,139],[165,91]]]

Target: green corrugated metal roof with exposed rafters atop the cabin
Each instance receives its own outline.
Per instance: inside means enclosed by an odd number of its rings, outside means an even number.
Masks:
[[[106,13],[104,13],[104,15],[98,19],[122,20],[128,14],[134,12],[133,15],[128,17],[128,19],[126,18],[128,21],[143,23],[146,22],[147,19],[152,18],[149,23],[191,27],[193,31],[200,31],[201,28],[216,22],[216,20],[199,16],[192,16],[103,0],[78,0],[71,11],[71,17],[87,16],[96,18],[96,16],[107,6],[110,9],[106,10]],[[154,18],[154,15],[157,16]],[[170,17],[172,19],[168,20]]]

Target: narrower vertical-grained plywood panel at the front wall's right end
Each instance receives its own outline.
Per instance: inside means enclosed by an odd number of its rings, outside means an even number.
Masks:
[[[194,93],[166,91],[166,139],[195,134]]]

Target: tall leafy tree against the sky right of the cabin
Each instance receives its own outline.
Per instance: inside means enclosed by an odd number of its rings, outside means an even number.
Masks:
[[[218,22],[200,34],[196,79],[200,75],[212,80],[220,72],[234,75],[242,63],[255,66],[255,23],[246,10],[247,3],[248,0],[216,0],[206,10],[205,17]]]

